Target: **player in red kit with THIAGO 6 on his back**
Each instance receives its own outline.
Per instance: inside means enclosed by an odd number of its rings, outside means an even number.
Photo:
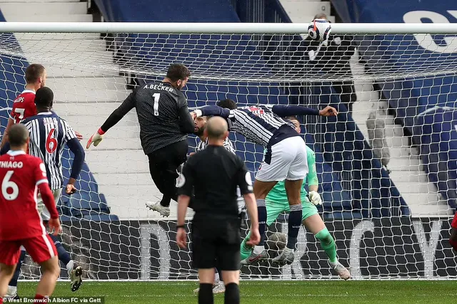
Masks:
[[[42,300],[53,293],[60,268],[56,247],[37,208],[38,190],[51,214],[49,229],[55,235],[61,231],[59,213],[43,162],[26,154],[29,130],[25,125],[10,128],[9,142],[11,150],[0,156],[0,303],[14,274],[21,246],[41,266],[43,275],[35,298]]]

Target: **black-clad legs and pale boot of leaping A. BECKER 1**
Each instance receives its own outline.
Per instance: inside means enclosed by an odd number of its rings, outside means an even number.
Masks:
[[[163,216],[170,215],[170,201],[178,199],[176,178],[179,177],[176,170],[187,159],[188,143],[186,140],[176,142],[149,154],[149,170],[159,191],[164,194],[161,201],[146,203],[151,210],[158,211]]]

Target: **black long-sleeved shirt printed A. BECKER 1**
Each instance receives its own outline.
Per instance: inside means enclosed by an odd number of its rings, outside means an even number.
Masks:
[[[136,108],[144,154],[187,139],[194,132],[187,100],[170,83],[147,83],[136,88],[108,117],[101,130],[108,131],[131,109]]]

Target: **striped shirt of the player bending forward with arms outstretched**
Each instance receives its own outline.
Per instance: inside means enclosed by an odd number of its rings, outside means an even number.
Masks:
[[[251,105],[235,110],[208,105],[200,111],[204,116],[216,115],[227,118],[231,131],[263,147],[268,147],[268,144],[274,145],[287,137],[298,136],[292,122],[283,120],[281,117],[318,115],[318,110],[283,105]]]

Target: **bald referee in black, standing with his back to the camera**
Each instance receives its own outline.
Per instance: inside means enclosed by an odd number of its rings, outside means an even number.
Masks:
[[[236,187],[246,201],[254,237],[250,245],[260,241],[256,198],[252,194],[251,174],[243,161],[224,148],[229,135],[227,122],[221,117],[208,120],[205,132],[209,145],[196,152],[184,164],[179,178],[178,226],[176,242],[186,247],[186,217],[194,193],[192,220],[192,261],[199,269],[199,304],[213,304],[214,267],[222,271],[226,285],[225,304],[240,303],[240,225]],[[217,263],[217,265],[216,265]]]

